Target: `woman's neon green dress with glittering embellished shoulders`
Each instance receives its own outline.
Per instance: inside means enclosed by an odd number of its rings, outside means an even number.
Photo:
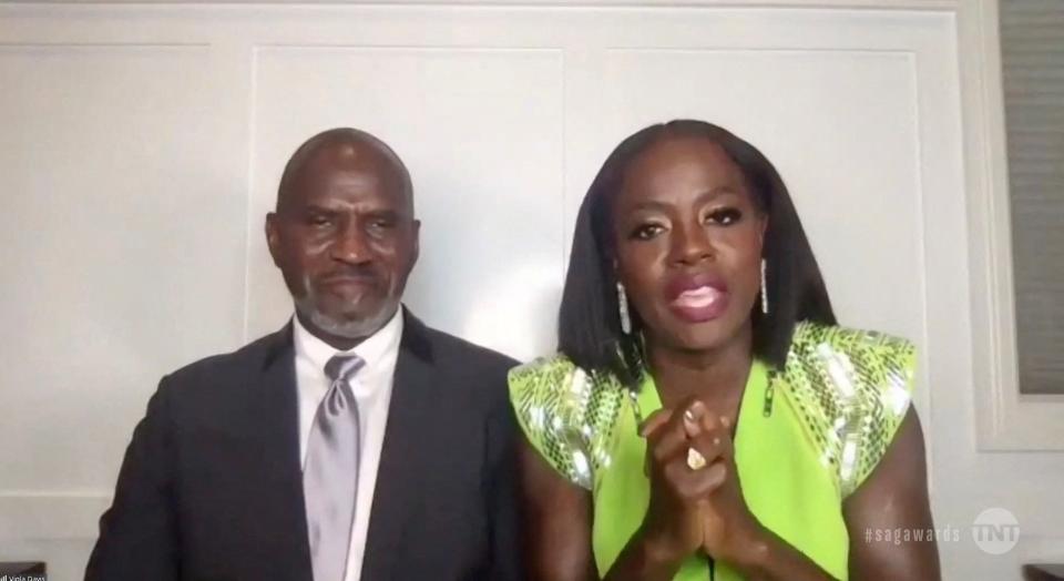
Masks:
[[[735,461],[758,521],[846,580],[849,537],[842,500],[871,473],[909,407],[914,351],[872,332],[801,323],[784,369],[755,361],[743,394]],[[662,407],[653,379],[633,394],[608,374],[564,356],[510,374],[510,397],[529,442],[563,477],[592,492],[592,547],[605,574],[643,522],[649,481],[636,417]],[[713,563],[713,579],[743,578]],[[705,554],[677,581],[706,580]]]

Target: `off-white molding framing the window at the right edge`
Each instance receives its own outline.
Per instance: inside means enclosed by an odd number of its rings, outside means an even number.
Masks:
[[[998,1],[959,10],[975,430],[984,451],[1064,450],[1064,397],[1020,393]]]

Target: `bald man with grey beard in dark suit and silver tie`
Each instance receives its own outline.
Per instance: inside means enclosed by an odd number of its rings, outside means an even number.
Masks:
[[[295,316],[163,378],[86,580],[520,575],[513,361],[401,308],[419,227],[383,142],[296,151],[266,217]]]

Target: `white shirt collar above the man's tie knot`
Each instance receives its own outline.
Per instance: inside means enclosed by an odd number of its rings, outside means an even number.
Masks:
[[[399,351],[399,342],[402,337],[402,308],[397,308],[383,327],[366,337],[361,343],[346,351],[338,350],[331,345],[310,333],[299,317],[291,317],[293,343],[296,348],[296,359],[303,359],[309,367],[317,369],[325,376],[325,364],[335,355],[357,355],[366,361],[366,367],[359,371],[359,377],[370,378],[379,374],[395,371]]]

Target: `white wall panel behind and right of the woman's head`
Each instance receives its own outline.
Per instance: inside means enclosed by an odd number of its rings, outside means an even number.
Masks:
[[[787,182],[840,320],[921,339],[911,53],[640,49],[606,62],[610,133],[695,118],[747,139]]]

